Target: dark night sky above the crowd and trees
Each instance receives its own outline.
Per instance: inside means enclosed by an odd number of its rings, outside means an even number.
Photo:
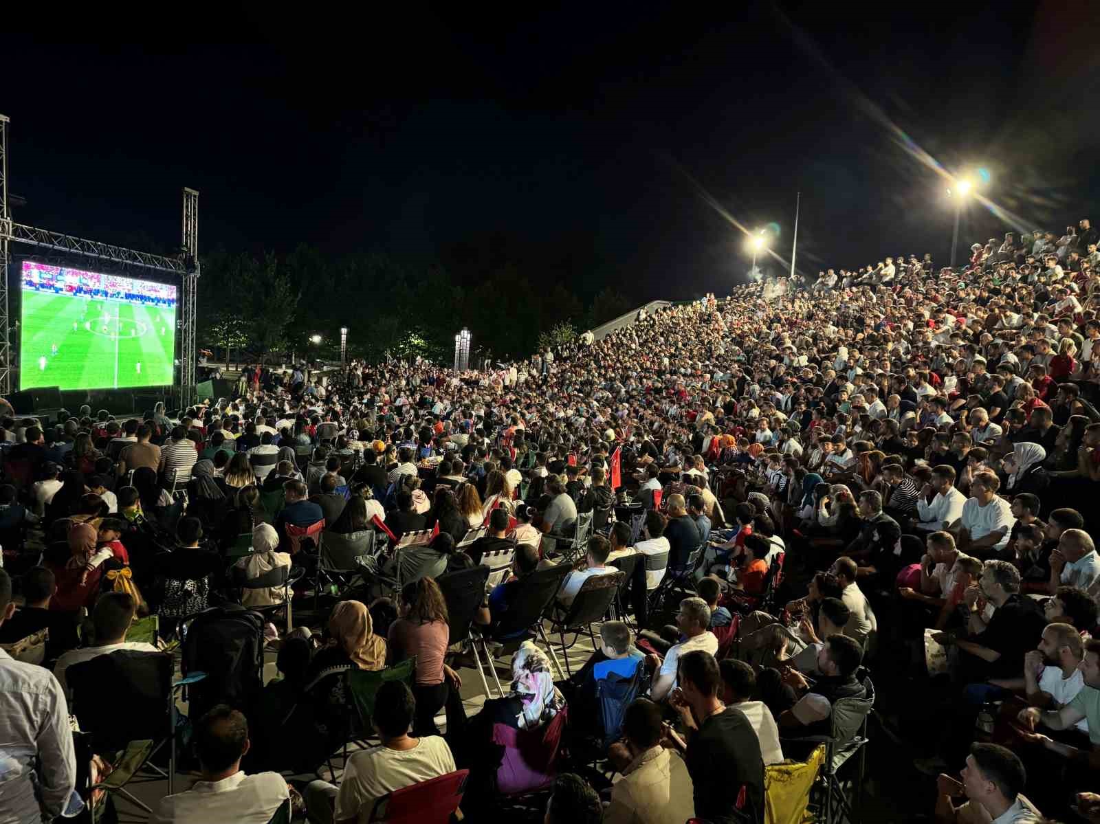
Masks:
[[[777,223],[784,260],[801,190],[800,270],[946,263],[945,180],[891,124],[949,169],[988,167],[1026,228],[1096,204],[1100,4],[747,6],[217,7],[178,41],[119,37],[144,46],[6,35],[15,217],[167,246],[186,185],[200,249],[435,253],[502,231],[591,243],[631,298],[679,298],[748,265],[700,188]],[[1012,228],[971,208],[964,240]]]

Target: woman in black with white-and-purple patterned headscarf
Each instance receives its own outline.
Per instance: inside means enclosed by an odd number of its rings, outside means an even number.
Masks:
[[[488,699],[470,721],[464,736],[471,768],[466,799],[472,807],[492,803],[497,770],[504,761],[505,748],[493,743],[493,728],[501,724],[517,730],[541,729],[564,708],[565,699],[553,685],[550,660],[532,642],[525,641],[512,658],[508,694]],[[465,805],[463,800],[463,810]]]

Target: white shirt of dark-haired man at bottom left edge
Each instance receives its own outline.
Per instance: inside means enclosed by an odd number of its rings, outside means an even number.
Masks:
[[[150,824],[267,824],[288,798],[286,779],[277,772],[234,772],[221,781],[197,781],[186,792],[161,799]]]

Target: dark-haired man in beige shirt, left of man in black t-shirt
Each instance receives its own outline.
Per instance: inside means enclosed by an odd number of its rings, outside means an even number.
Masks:
[[[623,778],[612,788],[604,824],[683,824],[695,816],[688,767],[661,746],[662,733],[659,704],[637,699],[626,708],[623,741],[608,751]]]

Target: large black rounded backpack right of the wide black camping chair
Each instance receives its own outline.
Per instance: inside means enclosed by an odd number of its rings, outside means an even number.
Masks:
[[[205,609],[191,619],[180,649],[184,675],[207,673],[189,688],[193,717],[216,704],[245,714],[256,706],[263,690],[263,615],[237,604]]]

